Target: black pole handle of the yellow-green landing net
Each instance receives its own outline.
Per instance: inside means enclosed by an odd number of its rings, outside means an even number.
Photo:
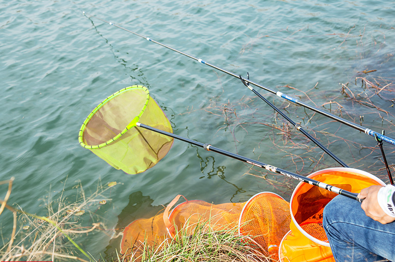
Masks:
[[[301,182],[304,182],[304,183],[311,184],[313,186],[317,186],[317,187],[323,188],[323,189],[328,190],[330,192],[334,192],[334,193],[337,193],[339,195],[343,195],[343,196],[349,197],[349,198],[357,200],[359,202],[363,201],[363,199],[358,198],[358,194],[356,194],[356,193],[352,193],[352,192],[343,190],[341,188],[325,184],[323,182],[319,182],[319,181],[316,181],[316,180],[313,180],[313,179],[310,179],[310,178],[307,178],[307,177],[300,176],[299,174],[296,174],[296,173],[293,173],[293,172],[289,172],[287,170],[278,168],[276,166],[268,165],[268,164],[265,164],[265,163],[262,163],[262,162],[259,162],[259,161],[255,161],[255,160],[253,160],[251,158],[240,156],[240,155],[237,155],[237,154],[234,154],[234,153],[222,150],[220,148],[213,147],[209,143],[201,143],[201,142],[198,142],[198,141],[195,141],[195,140],[183,137],[183,136],[179,136],[179,135],[176,135],[176,134],[173,134],[173,133],[166,132],[164,130],[160,130],[160,129],[157,129],[157,128],[154,128],[154,127],[150,127],[150,126],[141,124],[139,122],[136,123],[136,126],[144,128],[144,129],[147,129],[147,130],[150,130],[150,131],[153,131],[153,132],[157,132],[157,133],[160,133],[160,134],[163,134],[163,135],[166,135],[166,136],[170,136],[172,138],[175,138],[175,139],[178,139],[178,140],[181,140],[181,141],[193,144],[193,145],[196,145],[197,147],[201,147],[201,148],[203,148],[206,151],[216,152],[216,153],[219,153],[221,155],[224,155],[224,156],[227,156],[227,157],[231,157],[231,158],[240,160],[242,162],[245,162],[245,163],[248,163],[248,164],[260,167],[260,168],[265,168],[266,170],[269,170],[271,172],[282,174],[283,176],[289,177],[291,179],[294,179],[294,180],[297,180],[297,181],[301,181]]]

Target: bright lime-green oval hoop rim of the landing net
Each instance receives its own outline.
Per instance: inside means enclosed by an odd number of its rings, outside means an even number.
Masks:
[[[108,141],[106,141],[106,142],[104,142],[104,143],[101,143],[101,144],[97,144],[97,145],[88,145],[88,144],[86,144],[86,143],[83,141],[82,137],[83,137],[83,133],[84,133],[84,131],[85,131],[86,125],[88,124],[88,122],[90,121],[90,119],[92,119],[93,115],[94,115],[100,108],[102,108],[108,101],[110,101],[111,99],[113,99],[113,98],[115,98],[115,97],[121,95],[121,94],[124,93],[124,92],[128,92],[128,91],[133,90],[133,89],[142,89],[142,90],[144,90],[144,92],[146,93],[146,100],[145,100],[145,103],[144,103],[144,105],[143,105],[143,107],[142,107],[140,113],[139,113],[139,114],[138,114],[138,115],[137,115],[137,116],[136,116],[136,117],[125,127],[124,130],[122,130],[122,131],[121,131],[119,134],[117,134],[116,136],[112,137],[110,140],[108,140]],[[121,89],[121,90],[115,92],[114,94],[112,94],[111,96],[109,96],[109,97],[107,97],[105,100],[103,100],[103,102],[101,102],[98,106],[95,107],[94,110],[92,110],[92,112],[89,113],[88,117],[85,119],[85,121],[83,122],[83,124],[82,124],[82,126],[81,126],[81,128],[80,128],[80,130],[79,130],[79,132],[78,132],[78,142],[79,142],[79,144],[80,144],[81,147],[83,147],[83,148],[87,148],[87,149],[99,149],[99,148],[103,148],[103,147],[105,147],[106,145],[108,145],[108,144],[114,142],[116,139],[118,139],[118,138],[121,137],[123,134],[125,134],[129,129],[131,129],[132,127],[135,127],[135,126],[136,126],[136,123],[138,122],[138,120],[140,119],[141,115],[144,113],[145,108],[146,108],[147,105],[148,105],[148,101],[149,101],[149,91],[148,91],[148,89],[147,89],[145,86],[143,86],[143,85],[138,85],[138,84],[137,84],[137,85],[131,85],[131,86],[128,86],[128,87],[126,87],[126,88],[124,88],[124,89]]]

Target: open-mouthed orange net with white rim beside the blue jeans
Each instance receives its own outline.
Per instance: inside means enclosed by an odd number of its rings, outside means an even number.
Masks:
[[[372,185],[385,185],[372,174],[354,168],[328,168],[314,172],[311,179],[359,193]],[[300,182],[291,196],[290,231],[283,238],[280,261],[335,261],[322,227],[322,214],[326,204],[336,193]]]

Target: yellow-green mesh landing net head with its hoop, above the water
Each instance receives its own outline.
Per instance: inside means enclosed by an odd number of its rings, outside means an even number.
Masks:
[[[137,122],[172,132],[166,115],[141,85],[119,90],[99,104],[82,124],[78,140],[116,169],[140,173],[167,154],[173,138],[139,128]]]

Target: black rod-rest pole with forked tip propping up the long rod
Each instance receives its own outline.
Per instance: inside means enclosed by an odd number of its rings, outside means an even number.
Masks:
[[[324,147],[323,144],[321,144],[317,139],[315,139],[313,136],[311,136],[308,132],[306,132],[299,124],[296,124],[293,122],[286,114],[284,114],[279,108],[277,108],[274,104],[270,103],[266,98],[264,98],[261,94],[258,93],[251,85],[250,83],[246,82],[241,75],[239,76],[240,80],[244,85],[247,86],[248,89],[250,89],[255,95],[257,95],[260,99],[266,102],[271,108],[275,109],[279,114],[283,116],[289,123],[291,123],[296,130],[300,131],[303,135],[305,135],[307,138],[312,140],[318,147],[320,147],[326,154],[328,154],[331,158],[333,158],[336,162],[341,164],[343,167],[348,167],[346,163],[344,163],[340,158],[335,156],[332,152],[330,152],[327,148]],[[247,79],[250,79],[249,73],[247,73]]]

